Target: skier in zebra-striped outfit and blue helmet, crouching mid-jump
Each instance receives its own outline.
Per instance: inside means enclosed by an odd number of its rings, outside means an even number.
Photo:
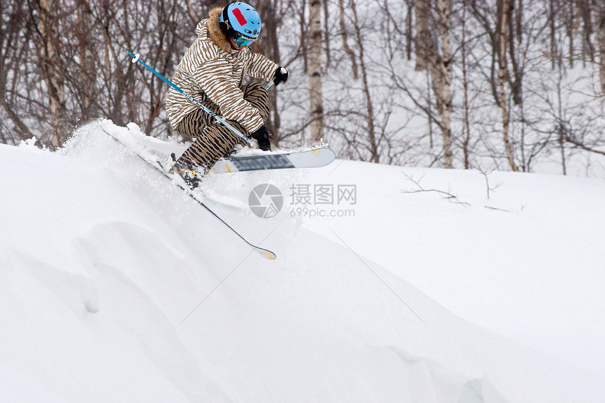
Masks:
[[[212,9],[209,18],[198,23],[198,39],[185,53],[172,81],[255,139],[261,150],[269,151],[271,135],[265,125],[269,95],[261,84],[243,85],[243,79],[248,75],[277,85],[286,82],[288,70],[250,50],[260,30],[260,15],[246,3],[234,1]],[[173,88],[166,98],[166,113],[174,131],[187,139],[196,138],[171,163],[171,172],[181,175],[191,187],[198,186],[196,167],[205,174],[236,144],[248,144]]]

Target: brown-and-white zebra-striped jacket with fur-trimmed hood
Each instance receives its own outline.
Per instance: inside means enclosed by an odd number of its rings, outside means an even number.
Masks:
[[[172,82],[202,103],[215,103],[222,117],[254,132],[264,122],[258,110],[243,98],[243,78],[249,75],[269,81],[278,66],[248,47],[231,49],[219,27],[221,13],[222,8],[215,8],[210,11],[210,18],[198,23],[198,39],[177,66]],[[196,108],[179,91],[170,88],[166,113],[172,129],[176,131],[181,120]]]

